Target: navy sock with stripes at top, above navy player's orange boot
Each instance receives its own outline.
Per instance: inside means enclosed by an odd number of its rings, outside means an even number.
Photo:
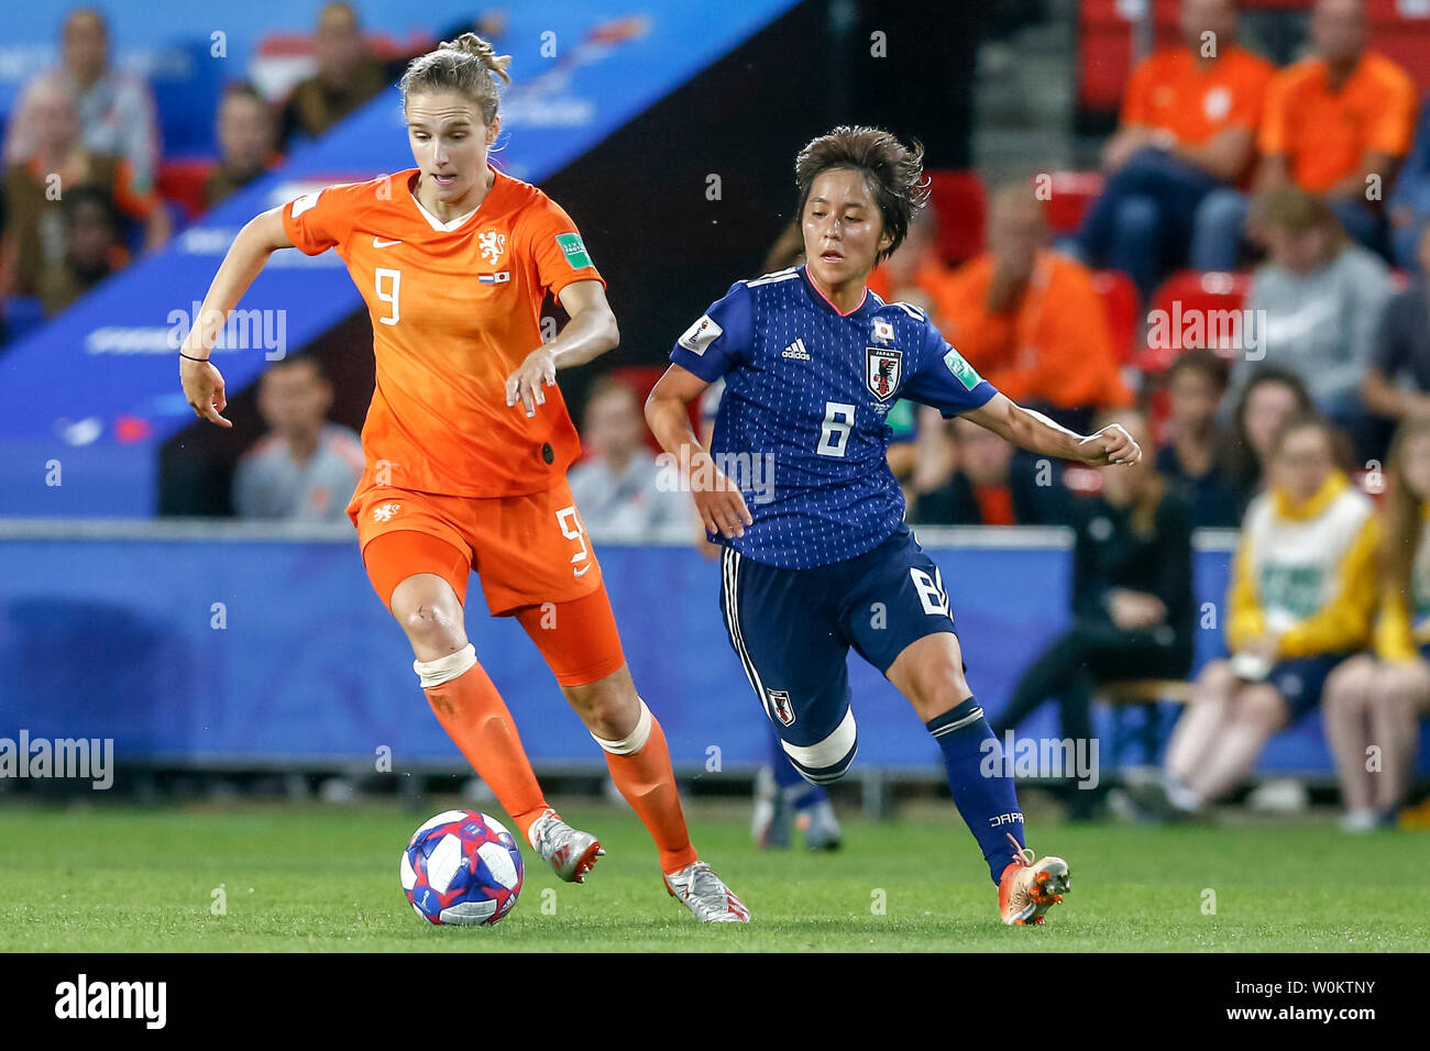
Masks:
[[[988,874],[997,884],[1012,857],[1008,835],[1025,845],[1018,791],[1012,776],[1004,775],[998,738],[974,698],[924,725],[944,754],[954,804],[982,848]]]

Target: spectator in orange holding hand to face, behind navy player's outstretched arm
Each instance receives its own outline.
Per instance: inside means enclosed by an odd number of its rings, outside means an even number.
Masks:
[[[1087,430],[1098,409],[1128,405],[1093,275],[1048,249],[1030,183],[994,196],[988,243],[942,287],[948,340],[998,390],[1064,426]]]

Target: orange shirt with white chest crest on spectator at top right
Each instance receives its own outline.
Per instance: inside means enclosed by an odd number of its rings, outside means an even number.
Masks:
[[[1274,67],[1244,47],[1228,47],[1200,64],[1187,47],[1165,47],[1133,71],[1123,99],[1123,124],[1171,132],[1178,143],[1203,146],[1228,127],[1256,132]]]

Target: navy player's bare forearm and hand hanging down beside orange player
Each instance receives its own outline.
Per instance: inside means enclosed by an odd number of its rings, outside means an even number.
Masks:
[[[689,369],[672,365],[645,399],[645,422],[685,476],[695,498],[695,509],[705,529],[721,536],[744,536],[754,525],[739,486],[715,466],[695,429],[686,406],[705,393],[709,383]]]

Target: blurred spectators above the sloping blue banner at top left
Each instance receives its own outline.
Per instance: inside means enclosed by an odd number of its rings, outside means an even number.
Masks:
[[[483,27],[490,31],[486,14]],[[462,29],[466,29],[463,26]],[[455,36],[455,34],[453,34]],[[69,306],[186,219],[159,196],[162,142],[153,92],[113,63],[103,13],[64,19],[61,61],[20,92],[4,134],[0,302],[37,297],[46,316]],[[323,6],[312,39],[315,70],[286,97],[229,83],[214,113],[217,156],[203,177],[213,207],[275,167],[295,143],[322,136],[400,74],[406,57],[379,59],[356,9]]]

